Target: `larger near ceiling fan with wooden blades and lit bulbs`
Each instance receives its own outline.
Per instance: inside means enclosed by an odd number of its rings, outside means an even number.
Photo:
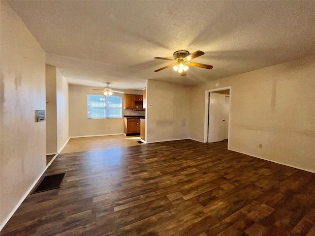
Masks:
[[[171,65],[167,65],[167,66],[164,66],[162,68],[159,68],[157,70],[155,70],[155,72],[158,72],[160,70],[164,70],[168,67],[171,67],[173,66],[173,69],[175,71],[178,71],[181,76],[185,76],[187,75],[186,71],[188,70],[188,66],[191,65],[191,66],[197,66],[197,67],[200,67],[200,68],[204,68],[204,69],[212,69],[213,66],[212,65],[206,65],[206,64],[201,64],[201,63],[197,63],[197,62],[192,62],[190,61],[191,59],[194,59],[194,58],[197,58],[199,56],[202,56],[204,55],[205,53],[204,52],[201,52],[201,51],[196,51],[192,54],[189,54],[189,51],[186,51],[186,50],[180,50],[180,51],[176,51],[173,56],[174,56],[174,59],[168,59],[168,58],[155,58],[155,59],[162,59],[162,60],[170,60],[170,61],[173,61],[175,63],[171,64]]]

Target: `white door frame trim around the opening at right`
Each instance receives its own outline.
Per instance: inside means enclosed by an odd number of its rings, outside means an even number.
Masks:
[[[204,143],[208,143],[208,130],[209,130],[209,93],[210,92],[216,92],[221,90],[230,90],[229,94],[229,112],[228,112],[228,131],[227,131],[227,149],[230,147],[230,123],[231,123],[231,97],[232,97],[232,87],[224,87],[224,88],[218,88],[218,89],[209,89],[205,91],[205,124],[204,124]]]

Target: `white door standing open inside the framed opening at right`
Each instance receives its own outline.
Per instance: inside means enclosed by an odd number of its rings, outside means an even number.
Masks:
[[[224,107],[225,95],[210,92],[208,143],[220,142],[224,139]]]

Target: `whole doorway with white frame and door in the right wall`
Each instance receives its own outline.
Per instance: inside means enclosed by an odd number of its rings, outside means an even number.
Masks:
[[[206,91],[205,143],[227,141],[229,148],[230,104],[231,87]]]

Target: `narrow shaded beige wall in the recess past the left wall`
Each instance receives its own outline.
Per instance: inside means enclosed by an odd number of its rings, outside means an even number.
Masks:
[[[46,65],[46,152],[57,153],[56,67]]]

